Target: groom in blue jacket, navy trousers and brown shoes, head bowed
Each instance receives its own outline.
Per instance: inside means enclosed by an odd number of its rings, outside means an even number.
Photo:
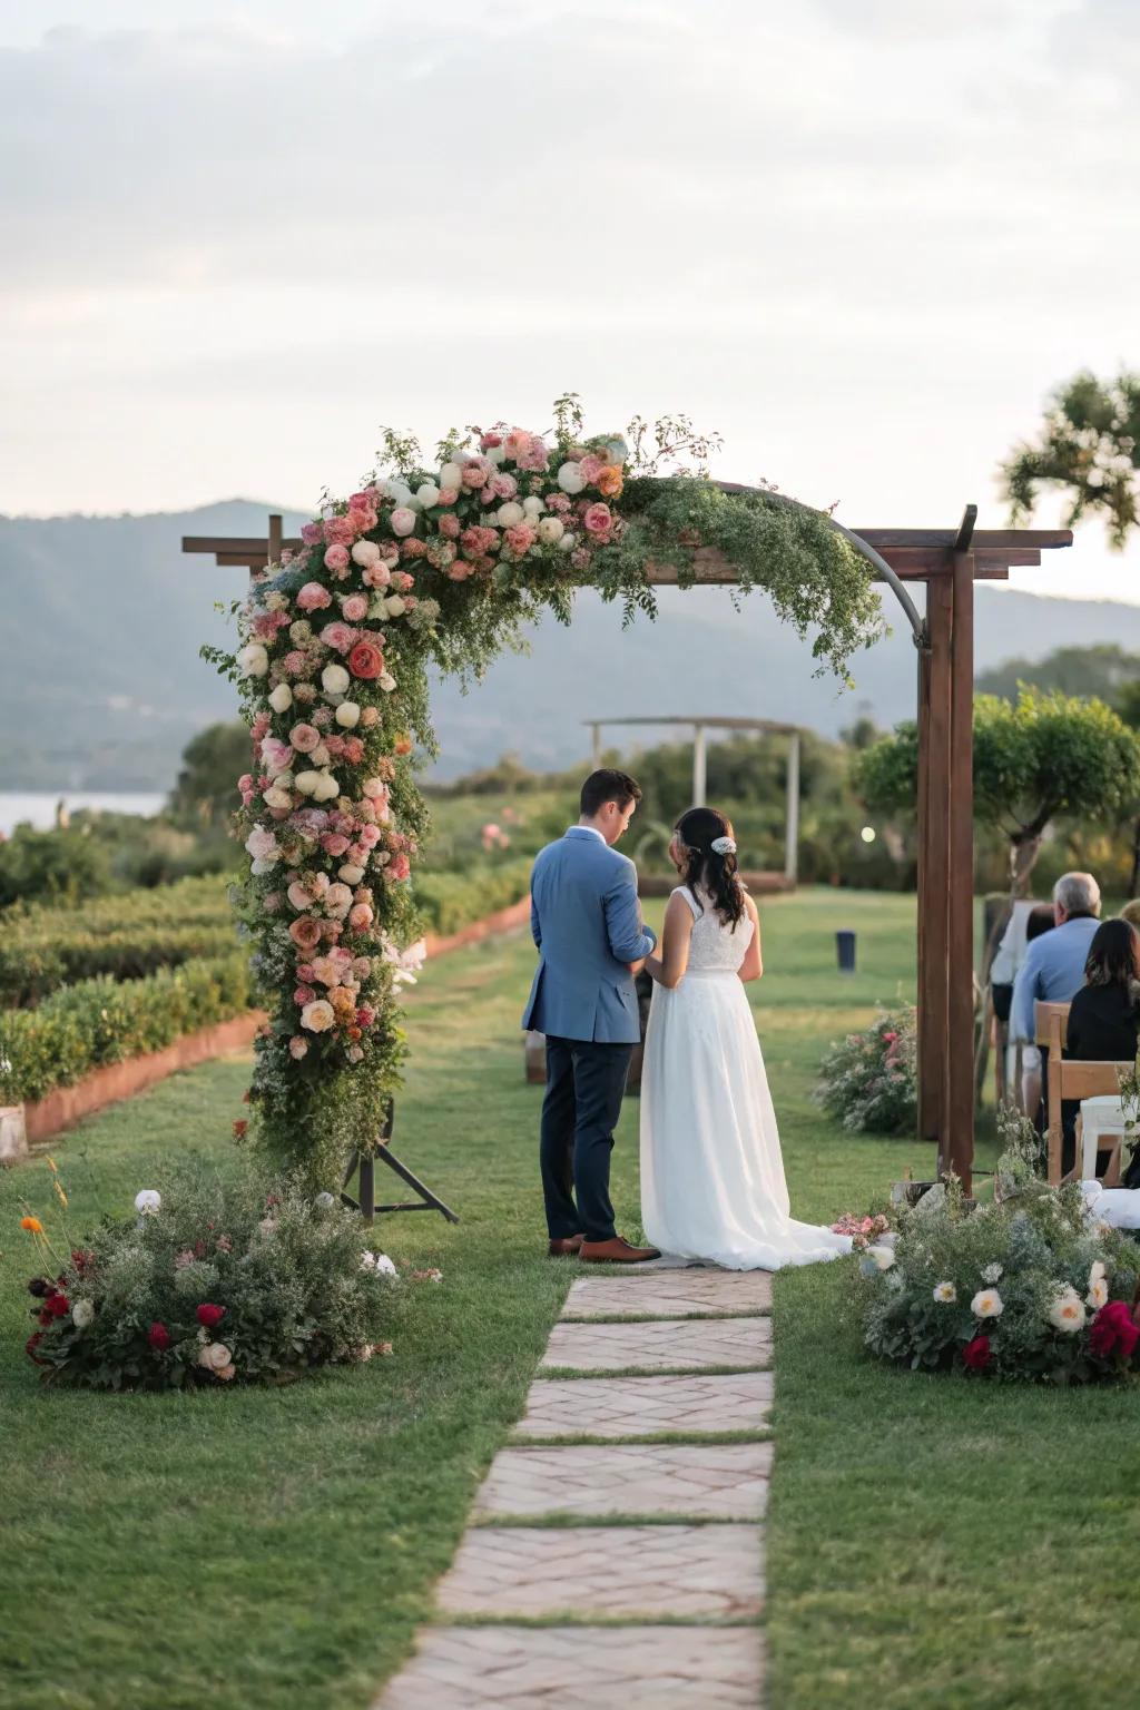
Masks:
[[[614,1129],[641,1038],[632,966],[656,946],[641,923],[634,864],[614,848],[639,800],[624,771],[590,773],[581,819],[538,853],[530,881],[538,970],[523,1026],[547,1036],[538,1156],[555,1259],[636,1265],[660,1257],[615,1233],[610,1204]]]

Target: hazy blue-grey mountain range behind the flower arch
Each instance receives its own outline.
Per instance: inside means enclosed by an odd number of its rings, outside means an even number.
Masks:
[[[147,516],[0,518],[0,790],[164,790],[186,740],[232,716],[227,682],[198,658],[232,636],[215,609],[246,573],[186,557],[185,534],[260,535],[270,506],[231,499]],[[285,511],[285,532],[304,520]],[[1113,641],[1140,652],[1140,607],[1060,600],[981,583],[978,670],[1010,655]],[[892,614],[887,610],[889,619]],[[812,675],[810,645],[761,593],[661,590],[656,622],[622,631],[620,609],[583,592],[574,624],[552,619],[528,657],[506,655],[470,694],[438,686],[438,778],[504,752],[535,768],[590,754],[590,718],[755,716],[836,734],[861,715],[890,725],[914,710],[914,648],[902,621],[851,667],[856,687]],[[658,730],[620,730],[632,747]]]

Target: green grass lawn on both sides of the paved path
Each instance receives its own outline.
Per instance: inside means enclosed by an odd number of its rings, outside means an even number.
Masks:
[[[798,1216],[831,1219],[931,1166],[916,1142],[841,1135],[808,1098],[827,1041],[911,992],[913,917],[885,894],[762,906],[757,1009]],[[861,971],[844,980],[846,925]],[[385,1228],[395,1255],[444,1271],[400,1286],[391,1359],[275,1392],[41,1392],[17,1200],[48,1216],[48,1173],[0,1176],[5,1707],[364,1710],[405,1657],[574,1276],[544,1252],[540,1091],[516,1033],[532,961],[523,939],[484,946],[412,994],[395,1149],[463,1221]],[[75,1223],[161,1185],[174,1154],[227,1168],[244,1079],[214,1064],[62,1139]],[[636,1115],[615,1153],[626,1233]],[[877,1368],[844,1315],[844,1269],[776,1284],[771,1703],[1130,1705],[1133,1397]]]

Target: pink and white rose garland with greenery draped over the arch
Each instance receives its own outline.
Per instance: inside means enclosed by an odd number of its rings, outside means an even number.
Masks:
[[[272,1016],[253,1139],[311,1182],[332,1185],[374,1139],[400,1079],[429,665],[477,675],[544,607],[567,621],[581,583],[627,616],[651,612],[651,563],[692,580],[697,547],[723,551],[742,587],[766,587],[800,634],[815,626],[820,669],[846,672],[880,631],[867,566],[826,516],[702,474],[660,479],[663,462],[708,455],[684,417],[636,421],[631,441],[585,438],[573,397],[549,438],[499,424],[426,458],[388,433],[361,491],[330,498],[301,551],[236,607],[238,652],[203,650],[239,682],[253,740],[241,913]]]

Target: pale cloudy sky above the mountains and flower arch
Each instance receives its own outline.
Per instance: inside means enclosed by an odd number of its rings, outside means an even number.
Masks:
[[[1002,527],[1140,366],[1138,86],[1135,0],[0,0],[0,511],[308,510],[573,390]],[[1140,604],[1140,545],[1014,581]]]

